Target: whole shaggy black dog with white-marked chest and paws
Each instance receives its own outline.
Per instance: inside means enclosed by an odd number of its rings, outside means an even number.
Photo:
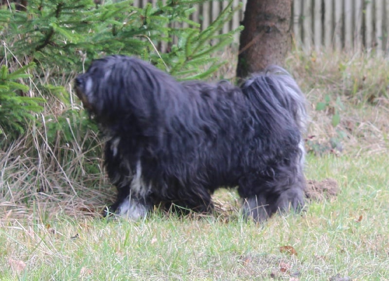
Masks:
[[[174,203],[210,212],[219,187],[237,187],[243,213],[262,220],[303,205],[305,100],[273,66],[240,87],[179,83],[137,58],[107,56],[75,80],[78,97],[109,137],[117,215],[138,219]]]

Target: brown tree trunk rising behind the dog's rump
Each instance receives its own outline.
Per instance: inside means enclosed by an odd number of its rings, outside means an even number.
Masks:
[[[291,47],[292,0],[248,0],[236,75],[245,78],[269,65],[283,65]]]

